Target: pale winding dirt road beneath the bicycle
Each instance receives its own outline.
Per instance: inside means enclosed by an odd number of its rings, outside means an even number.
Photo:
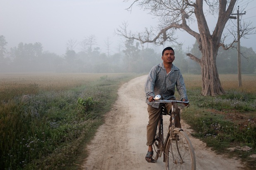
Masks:
[[[106,123],[99,128],[96,136],[87,146],[89,156],[82,165],[83,169],[161,170],[165,168],[163,158],[159,158],[157,163],[145,161],[148,123],[145,80],[146,76],[134,78],[118,90],[118,100],[112,110],[106,114]],[[168,127],[168,121],[169,117],[164,116],[164,127]],[[191,130],[188,125],[184,122],[181,125],[189,135]],[[242,167],[239,160],[217,155],[206,148],[199,139],[189,136],[196,153],[197,170],[237,170]]]

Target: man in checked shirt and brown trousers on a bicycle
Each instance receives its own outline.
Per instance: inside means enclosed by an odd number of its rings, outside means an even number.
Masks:
[[[174,59],[174,50],[171,47],[166,47],[162,52],[163,62],[150,70],[145,83],[146,103],[148,105],[147,111],[149,114],[149,122],[147,125],[148,151],[145,159],[150,163],[155,163],[155,160],[152,158],[152,144],[155,141],[155,134],[162,106],[164,105],[168,112],[171,110],[171,103],[154,103],[153,98],[156,94],[160,94],[163,100],[176,100],[174,97],[176,85],[181,100],[188,101],[186,87],[181,72],[179,71],[179,68],[172,64]],[[174,105],[174,108],[176,114],[175,125],[176,127],[181,128],[180,109],[177,104]]]

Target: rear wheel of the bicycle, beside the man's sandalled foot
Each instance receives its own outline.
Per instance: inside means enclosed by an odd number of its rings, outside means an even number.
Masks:
[[[158,125],[157,125],[157,131],[156,131],[156,135],[155,135],[155,142],[152,145],[154,154],[153,154],[153,159],[157,162],[157,159],[159,157],[161,157],[161,142],[159,142],[161,139],[161,120],[159,120]]]

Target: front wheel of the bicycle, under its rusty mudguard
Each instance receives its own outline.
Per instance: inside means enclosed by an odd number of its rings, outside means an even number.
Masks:
[[[169,137],[166,149],[167,170],[196,170],[196,156],[188,138],[183,131],[174,131]]]

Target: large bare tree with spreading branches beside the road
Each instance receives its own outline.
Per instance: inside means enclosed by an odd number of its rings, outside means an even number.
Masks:
[[[129,0],[126,0],[129,1]],[[145,28],[142,33],[132,33],[127,30],[127,23],[123,23],[120,28],[116,29],[116,33],[130,40],[138,40],[141,43],[154,43],[156,45],[164,45],[165,42],[177,42],[175,36],[176,29],[184,30],[194,38],[199,45],[202,58],[198,58],[191,53],[186,55],[193,59],[201,67],[202,74],[202,95],[219,95],[224,90],[221,86],[216,66],[216,57],[219,47],[229,49],[234,47],[234,40],[229,46],[225,46],[222,34],[229,20],[230,15],[235,7],[237,0],[133,0],[131,9],[136,3],[142,9],[149,10],[150,14],[159,18],[157,28]],[[203,9],[208,6],[206,13]],[[205,14],[217,14],[217,23],[212,34],[208,27]],[[198,31],[190,28],[192,22],[197,21]],[[246,28],[246,26],[245,26]],[[248,29],[248,28],[246,28]],[[246,30],[242,31],[242,35],[246,35]]]

